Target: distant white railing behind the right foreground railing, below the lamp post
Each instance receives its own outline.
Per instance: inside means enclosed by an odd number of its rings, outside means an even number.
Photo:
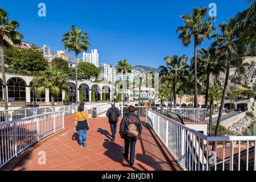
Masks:
[[[180,115],[185,123],[206,123],[206,113],[207,109],[201,108],[184,108],[184,109],[174,109],[171,107],[157,107],[151,106],[151,109],[157,111],[158,113],[169,117],[171,113]]]

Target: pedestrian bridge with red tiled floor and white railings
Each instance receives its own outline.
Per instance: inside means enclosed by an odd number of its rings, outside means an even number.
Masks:
[[[88,147],[80,148],[73,131],[77,106],[0,123],[0,167],[4,170],[256,170],[256,137],[208,137],[177,119],[200,123],[199,110],[166,117],[158,109],[138,107],[143,123],[135,166],[122,158],[124,142],[111,143],[107,106],[90,119]],[[120,108],[123,115],[126,107]],[[170,113],[170,111],[168,111]],[[174,112],[175,114],[175,112]],[[100,116],[100,117],[99,117]],[[216,146],[216,152],[212,151]],[[254,148],[254,150],[251,150]],[[252,152],[253,151],[253,152]],[[223,160],[224,159],[224,160]]]

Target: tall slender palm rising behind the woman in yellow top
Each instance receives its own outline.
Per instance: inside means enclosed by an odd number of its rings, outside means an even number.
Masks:
[[[90,46],[88,39],[87,33],[82,33],[82,30],[77,29],[75,25],[72,25],[71,31],[65,32],[62,39],[65,49],[68,49],[69,52],[74,51],[76,53],[76,103],[78,103],[77,56],[83,51],[88,51],[88,46]]]

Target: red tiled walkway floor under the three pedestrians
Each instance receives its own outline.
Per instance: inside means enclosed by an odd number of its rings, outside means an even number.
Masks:
[[[122,158],[123,139],[117,135],[115,143],[110,142],[110,127],[107,118],[90,119],[87,147],[80,148],[78,135],[73,132],[73,115],[65,117],[64,133],[49,139],[32,151],[14,170],[172,170],[150,131],[143,127],[142,140],[138,140],[135,166]],[[46,152],[46,164],[39,165],[38,152]]]

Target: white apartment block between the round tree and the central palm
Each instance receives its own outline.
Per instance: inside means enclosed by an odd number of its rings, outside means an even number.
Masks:
[[[101,76],[108,79],[109,81],[116,81],[116,69],[110,64],[100,64]]]

